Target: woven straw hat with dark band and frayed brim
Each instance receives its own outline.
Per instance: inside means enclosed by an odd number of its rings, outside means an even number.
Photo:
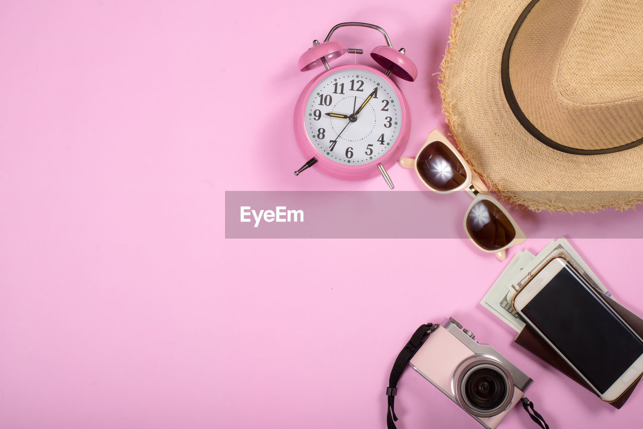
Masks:
[[[464,0],[441,68],[458,149],[505,199],[643,202],[640,0]]]

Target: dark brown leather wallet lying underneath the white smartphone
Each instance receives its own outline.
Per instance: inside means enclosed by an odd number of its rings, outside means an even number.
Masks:
[[[629,326],[631,326],[635,333],[643,338],[643,319],[638,317],[625,307],[621,306],[615,300],[609,297],[604,298],[610,303],[610,306],[614,309],[614,311],[618,313],[619,316],[621,316]],[[579,383],[579,385],[590,390],[590,392],[595,393],[592,388],[586,385],[583,379],[581,379],[578,374],[576,374],[576,372],[565,362],[565,360],[563,360],[563,358],[561,358],[548,345],[548,343],[545,342],[545,340],[543,340],[529,325],[525,325],[523,330],[520,331],[516,338],[514,338],[514,342],[529,350],[530,352],[547,362],[549,365],[552,365],[552,367],[556,368],[575,382]],[[626,390],[621,396],[619,396],[616,401],[610,402],[610,404],[612,406],[615,406],[616,408],[620,408],[621,406],[623,406],[625,401],[628,400],[628,397],[634,391],[634,388],[637,387],[638,381],[640,381],[640,378],[637,379],[637,381],[635,381],[628,388],[628,390]]]

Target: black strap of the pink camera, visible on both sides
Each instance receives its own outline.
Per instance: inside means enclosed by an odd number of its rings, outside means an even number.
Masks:
[[[420,349],[422,343],[424,343],[424,340],[426,340],[426,338],[428,338],[428,336],[430,336],[433,331],[438,329],[439,326],[439,324],[424,324],[421,327],[417,328],[411,339],[408,340],[408,343],[406,343],[406,345],[404,346],[404,349],[402,349],[402,351],[397,355],[397,359],[395,359],[395,363],[393,364],[393,368],[391,369],[391,375],[388,378],[388,388],[386,388],[386,396],[388,397],[386,427],[388,429],[397,429],[395,427],[395,422],[397,421],[397,415],[395,415],[395,395],[397,394],[397,382],[402,376],[404,369],[406,369],[406,365],[408,365],[409,361],[413,358],[413,356],[415,356],[415,352]],[[532,403],[532,401],[523,396],[521,402],[523,408],[525,408],[525,411],[527,412],[527,414],[529,414],[529,417],[531,417],[531,419],[536,424],[538,424],[538,426],[540,426],[542,429],[549,429],[549,426],[547,425],[547,423],[545,423],[545,419],[543,419],[543,416],[540,415],[538,411],[534,410],[534,404]]]

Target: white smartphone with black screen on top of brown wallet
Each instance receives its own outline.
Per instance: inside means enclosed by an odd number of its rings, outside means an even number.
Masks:
[[[604,401],[643,374],[643,340],[564,258],[543,266],[512,306]]]

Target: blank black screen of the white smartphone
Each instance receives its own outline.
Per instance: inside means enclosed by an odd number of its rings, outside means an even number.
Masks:
[[[643,354],[643,343],[568,266],[522,310],[599,392]]]

